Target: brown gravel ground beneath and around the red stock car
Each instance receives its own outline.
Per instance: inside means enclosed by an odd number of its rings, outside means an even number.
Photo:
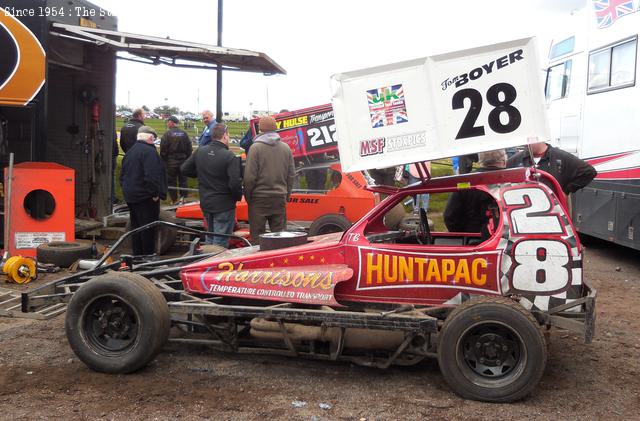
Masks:
[[[596,338],[553,330],[545,375],[521,402],[460,399],[434,360],[378,370],[169,344],[136,374],[105,375],[71,352],[64,317],[0,318],[0,418],[640,419],[640,253],[587,245]]]

